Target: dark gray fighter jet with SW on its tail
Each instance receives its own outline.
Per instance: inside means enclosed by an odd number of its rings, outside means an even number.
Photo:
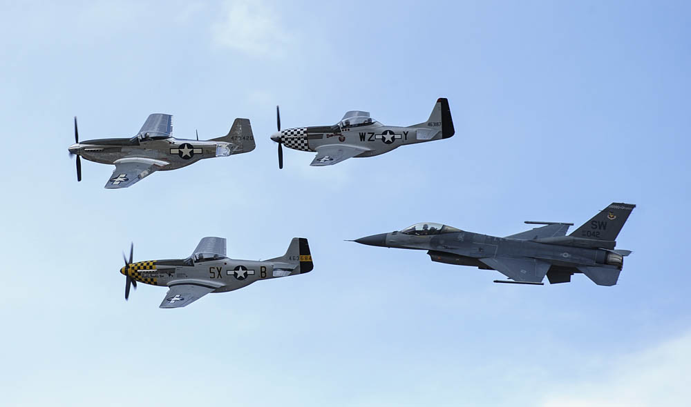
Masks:
[[[624,257],[631,254],[630,250],[616,250],[615,239],[634,208],[630,203],[612,203],[568,236],[566,232],[573,224],[526,221],[545,226],[495,237],[422,223],[355,241],[428,250],[432,261],[497,270],[513,280],[495,283],[542,285],[545,275],[551,284],[567,283],[571,275],[582,272],[598,286],[614,286]]]

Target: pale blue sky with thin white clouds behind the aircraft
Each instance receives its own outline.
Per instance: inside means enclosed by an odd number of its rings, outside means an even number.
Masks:
[[[0,393],[10,406],[647,406],[691,397],[685,2],[0,2],[6,215]],[[448,140],[311,168],[284,127],[368,110],[390,124],[447,97]],[[254,152],[105,190],[67,155],[174,134]],[[343,241],[438,221],[510,235],[638,207],[617,286],[493,284],[498,273]],[[240,259],[307,237],[308,275],[160,310],[125,302],[122,251],[186,257],[204,236]]]

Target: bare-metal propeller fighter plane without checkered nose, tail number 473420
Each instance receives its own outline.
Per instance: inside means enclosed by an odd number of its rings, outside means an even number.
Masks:
[[[75,117],[75,143],[70,155],[77,155],[77,181],[82,181],[82,161],[115,165],[105,188],[127,188],[154,171],[177,170],[200,159],[227,157],[254,150],[254,135],[248,119],[235,119],[227,135],[200,141],[172,136],[173,116],[149,115],[134,137],[79,142]]]

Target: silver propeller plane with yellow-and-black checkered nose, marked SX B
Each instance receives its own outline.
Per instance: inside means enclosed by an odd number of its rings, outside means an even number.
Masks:
[[[254,281],[305,274],[313,267],[310,245],[302,237],[292,239],[285,255],[265,261],[230,259],[225,248],[222,237],[205,237],[187,259],[133,263],[133,246],[130,246],[129,260],[125,257],[125,266],[120,268],[126,276],[125,299],[129,297],[130,286],[137,288],[137,282],[167,286],[160,308],[180,308],[209,292],[228,292]]]

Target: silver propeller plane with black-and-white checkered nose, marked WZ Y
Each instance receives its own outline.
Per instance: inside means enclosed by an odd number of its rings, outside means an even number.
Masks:
[[[384,126],[369,112],[353,110],[333,126],[312,126],[281,130],[281,115],[276,106],[278,132],[271,139],[278,143],[278,168],[283,168],[283,148],[316,152],[310,166],[332,166],[352,157],[374,157],[400,146],[424,143],[453,136],[451,110],[445,98],[437,100],[427,121],[408,127]]]

